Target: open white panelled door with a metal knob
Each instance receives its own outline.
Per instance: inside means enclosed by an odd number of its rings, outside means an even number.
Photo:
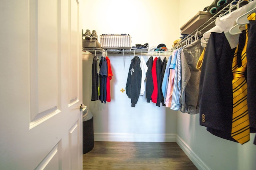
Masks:
[[[80,1],[0,2],[1,170],[82,170]]]

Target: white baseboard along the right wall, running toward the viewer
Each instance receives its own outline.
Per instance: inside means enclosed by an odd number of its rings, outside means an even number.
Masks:
[[[193,164],[198,168],[198,170],[211,170],[203,161],[200,159],[196,153],[188,146],[185,141],[183,141],[178,135],[176,135],[176,143],[185,152],[188,158],[193,162]]]

